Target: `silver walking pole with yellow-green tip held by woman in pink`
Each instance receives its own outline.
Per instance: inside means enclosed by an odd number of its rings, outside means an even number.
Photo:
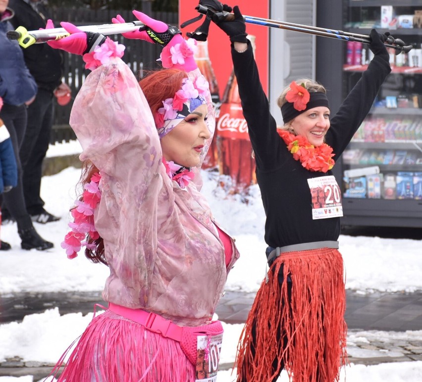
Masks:
[[[114,35],[118,33],[132,32],[144,27],[141,21],[132,21],[122,24],[101,24],[78,26],[83,32],[101,33],[103,35]],[[18,40],[19,45],[27,48],[32,44],[45,43],[51,40],[59,40],[69,36],[64,28],[41,29],[37,31],[27,31],[24,27],[18,27],[14,31],[7,32],[10,40]]]

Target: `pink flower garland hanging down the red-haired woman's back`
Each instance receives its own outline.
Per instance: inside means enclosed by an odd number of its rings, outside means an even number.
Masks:
[[[71,210],[74,220],[68,225],[72,230],[67,233],[60,244],[66,250],[67,258],[69,259],[74,259],[82,246],[86,246],[91,250],[95,249],[95,244],[88,244],[84,240],[87,235],[94,240],[100,238],[94,225],[94,210],[101,199],[100,180],[101,175],[95,173],[91,177],[91,182],[84,186],[82,200],[76,200],[76,206]]]

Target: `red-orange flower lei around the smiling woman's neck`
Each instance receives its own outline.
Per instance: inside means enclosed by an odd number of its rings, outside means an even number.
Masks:
[[[278,135],[287,144],[287,149],[310,171],[327,172],[334,166],[333,149],[326,143],[315,147],[301,135],[294,135],[287,130],[277,129]]]

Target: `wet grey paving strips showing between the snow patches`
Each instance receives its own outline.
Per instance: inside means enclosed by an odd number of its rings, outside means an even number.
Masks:
[[[422,291],[414,293],[375,292],[360,294],[348,290],[345,319],[348,324],[347,349],[353,364],[422,361]],[[216,313],[221,321],[242,324],[246,321],[255,293],[228,291]],[[26,314],[58,306],[61,314],[92,312],[94,303],[105,304],[100,292],[22,293],[0,295],[0,323],[19,321]],[[220,370],[232,364],[220,365]],[[0,362],[0,376],[33,375],[45,378],[53,365],[8,359]]]

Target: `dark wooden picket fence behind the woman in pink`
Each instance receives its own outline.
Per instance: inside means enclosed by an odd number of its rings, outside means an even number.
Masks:
[[[144,4],[144,9],[139,10],[165,23],[177,25],[177,13],[152,12],[150,2],[146,1]],[[126,21],[135,20],[130,10],[91,10],[84,8],[52,7],[54,22],[69,21],[75,25],[110,24],[111,18],[116,14],[122,15]],[[159,57],[161,48],[158,45],[141,40],[125,39],[122,35],[110,35],[109,37],[125,45],[126,49],[122,59],[129,65],[137,78],[142,76],[143,70],[157,69],[159,67],[156,60]],[[53,131],[50,139],[52,144],[63,141],[68,142],[76,138],[69,126],[70,110],[84,79],[90,73],[89,70],[85,70],[85,63],[82,57],[74,54],[63,54],[63,68],[64,82],[72,89],[72,100],[65,106],[60,106],[57,103],[54,105]]]

